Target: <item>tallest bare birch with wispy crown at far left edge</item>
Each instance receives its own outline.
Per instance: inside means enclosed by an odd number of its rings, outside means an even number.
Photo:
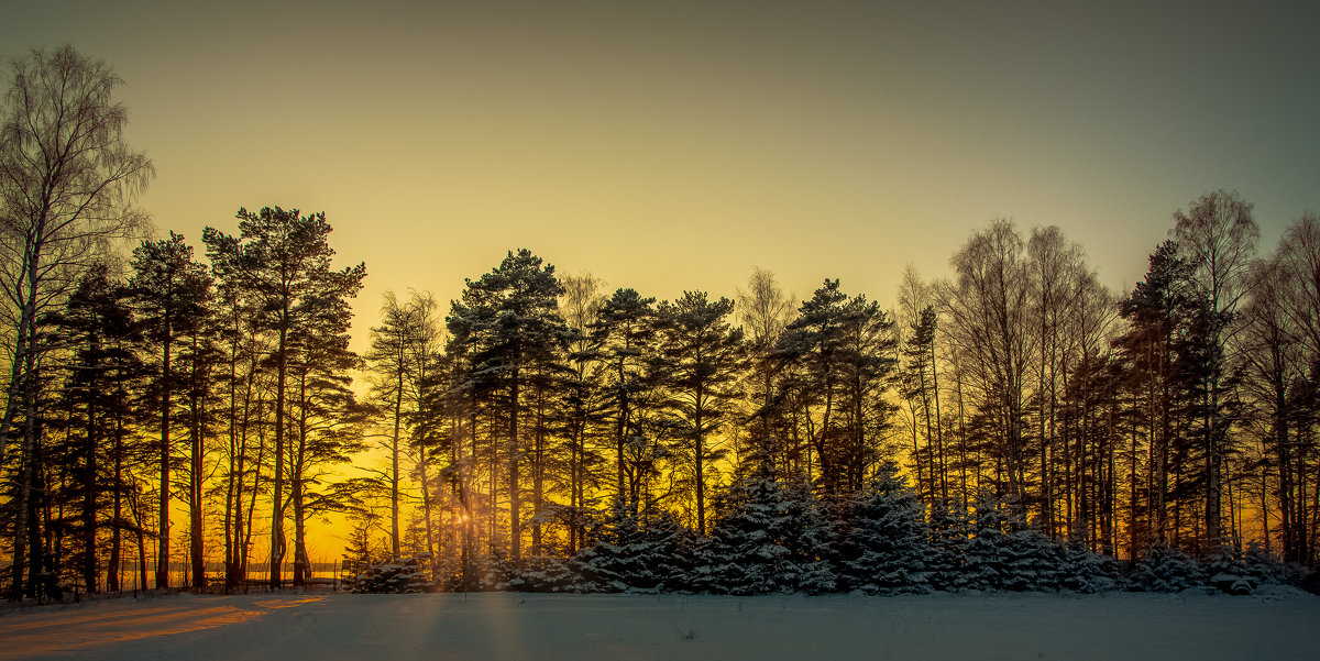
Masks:
[[[88,264],[120,239],[135,236],[147,215],[135,203],[154,170],[123,140],[128,110],[114,100],[123,84],[99,59],[71,46],[33,50],[11,65],[0,108],[0,290],[9,384],[0,417],[0,462],[18,430],[12,595],[24,592],[28,503],[32,496],[36,372],[45,351],[38,325]]]

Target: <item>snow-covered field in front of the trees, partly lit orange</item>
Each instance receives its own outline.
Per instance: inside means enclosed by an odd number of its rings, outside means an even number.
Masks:
[[[0,617],[0,658],[1315,660],[1320,598],[178,595]]]

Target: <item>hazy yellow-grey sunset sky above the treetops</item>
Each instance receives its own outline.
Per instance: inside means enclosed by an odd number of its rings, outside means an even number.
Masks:
[[[381,290],[447,301],[517,247],[660,298],[760,265],[890,305],[997,216],[1127,290],[1214,187],[1265,249],[1320,210],[1315,3],[471,5],[11,0],[0,55],[115,67],[161,232],[325,211],[359,348]]]

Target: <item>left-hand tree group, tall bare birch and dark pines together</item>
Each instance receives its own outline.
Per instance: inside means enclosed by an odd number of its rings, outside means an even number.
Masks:
[[[279,207],[239,210],[238,236],[207,228],[209,264],[174,232],[141,240],[133,202],[153,170],[123,142],[121,80],[67,46],[12,74],[0,145],[8,595],[164,588],[176,574],[199,588],[219,554],[236,587],[267,515],[269,581],[281,582],[292,521],[304,582],[306,521],[351,503],[325,472],[362,446],[348,301],[364,268],[330,268],[323,214]],[[125,260],[115,241],[133,239]]]

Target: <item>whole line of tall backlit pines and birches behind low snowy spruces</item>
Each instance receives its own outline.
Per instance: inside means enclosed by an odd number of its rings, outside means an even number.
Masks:
[[[387,294],[355,355],[366,268],[331,267],[323,214],[240,208],[236,235],[149,237],[153,166],[123,141],[121,80],[67,46],[12,74],[13,598],[117,591],[125,573],[169,587],[181,558],[194,587],[211,558],[231,588],[255,565],[281,584],[289,559],[301,584],[330,512],[351,555],[425,555],[475,584],[490,557],[590,546],[611,512],[705,537],[744,479],[842,501],[891,462],[931,512],[990,497],[1115,558],[1255,542],[1316,565],[1313,214],[1259,255],[1250,203],[1210,191],[1121,293],[1057,227],[995,220],[948,278],[909,268],[892,309],[838,280],[793,301],[760,269],[733,298],[657,301],[519,249],[447,310]]]

